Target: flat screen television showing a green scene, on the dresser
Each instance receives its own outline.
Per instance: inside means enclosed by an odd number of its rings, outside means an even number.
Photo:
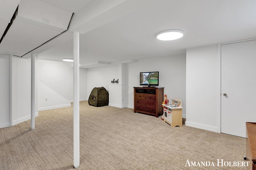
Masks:
[[[159,72],[140,72],[140,86],[159,86]]]

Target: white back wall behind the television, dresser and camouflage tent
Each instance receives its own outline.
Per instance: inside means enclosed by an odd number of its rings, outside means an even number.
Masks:
[[[120,64],[88,68],[88,98],[94,87],[103,86],[109,91],[108,88],[111,81],[114,78],[120,78],[118,76],[122,76],[123,85],[127,88],[127,90],[124,90],[126,94],[122,98],[128,100],[122,106],[133,108],[133,87],[140,86],[140,72],[159,71],[159,87],[164,87],[164,94],[168,95],[169,102],[171,102],[170,99],[172,98],[180,98],[182,100],[182,115],[186,117],[186,54],[127,63],[123,66],[122,71],[126,71],[122,72],[122,75],[118,70],[120,70]],[[118,104],[121,105],[121,103]]]

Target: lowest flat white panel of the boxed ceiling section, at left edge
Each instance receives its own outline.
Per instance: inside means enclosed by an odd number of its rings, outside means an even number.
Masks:
[[[39,44],[4,38],[0,44],[0,53],[21,57],[38,46]]]

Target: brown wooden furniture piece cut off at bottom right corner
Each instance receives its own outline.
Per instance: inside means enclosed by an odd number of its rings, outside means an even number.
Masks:
[[[248,170],[256,170],[256,123],[246,122],[246,159]]]

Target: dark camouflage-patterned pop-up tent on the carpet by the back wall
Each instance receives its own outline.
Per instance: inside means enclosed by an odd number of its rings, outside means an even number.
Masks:
[[[108,91],[104,87],[92,89],[88,104],[91,106],[108,106]]]

